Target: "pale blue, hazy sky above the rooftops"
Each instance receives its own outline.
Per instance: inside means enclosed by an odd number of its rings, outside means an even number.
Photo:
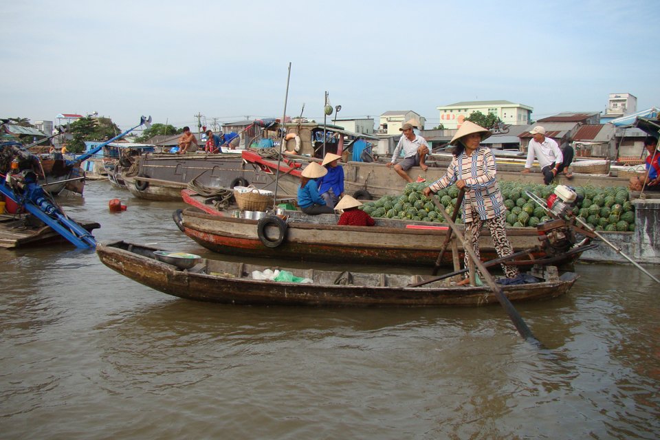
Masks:
[[[532,118],[660,106],[660,1],[0,0],[0,116],[177,127],[509,100]],[[653,49],[656,47],[656,49]],[[287,94],[287,72],[291,74]]]

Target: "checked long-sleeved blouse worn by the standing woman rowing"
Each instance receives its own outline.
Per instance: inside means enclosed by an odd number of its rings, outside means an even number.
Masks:
[[[465,180],[463,198],[463,222],[470,223],[474,214],[479,219],[494,219],[505,213],[500,187],[495,180],[495,156],[490,148],[479,146],[472,156],[465,151],[459,157],[453,157],[447,173],[430,184],[433,192],[447,188],[457,180]]]

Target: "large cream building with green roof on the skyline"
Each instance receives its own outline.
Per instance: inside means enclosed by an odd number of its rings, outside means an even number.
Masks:
[[[527,125],[531,122],[533,107],[515,102],[499,101],[463,101],[441,107],[436,107],[440,112],[440,123],[445,129],[457,129],[465,118],[472,113],[480,111],[484,115],[496,115],[502,122],[510,125]]]

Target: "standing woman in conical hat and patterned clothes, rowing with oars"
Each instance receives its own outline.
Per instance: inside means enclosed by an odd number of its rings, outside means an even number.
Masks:
[[[450,142],[455,148],[447,173],[424,188],[424,195],[427,197],[431,192],[438,192],[454,183],[459,190],[465,190],[462,206],[465,239],[472,244],[477,257],[479,235],[484,224],[490,231],[498,256],[509,256],[513,253],[505,228],[506,208],[495,179],[495,156],[490,148],[479,145],[490,135],[490,131],[473,122],[463,122]],[[465,267],[469,260],[470,256],[465,252]],[[516,278],[520,274],[516,266],[502,265],[502,268],[507,278]],[[469,282],[469,278],[466,278],[459,285]]]

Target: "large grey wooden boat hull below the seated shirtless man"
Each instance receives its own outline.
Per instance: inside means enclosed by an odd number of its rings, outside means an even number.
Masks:
[[[122,174],[134,197],[151,200],[181,200],[181,190],[193,179],[209,188],[253,185],[274,190],[276,175],[270,168],[246,162],[240,154],[146,154],[137,158],[137,170]],[[278,176],[278,192],[295,188],[298,177]]]

